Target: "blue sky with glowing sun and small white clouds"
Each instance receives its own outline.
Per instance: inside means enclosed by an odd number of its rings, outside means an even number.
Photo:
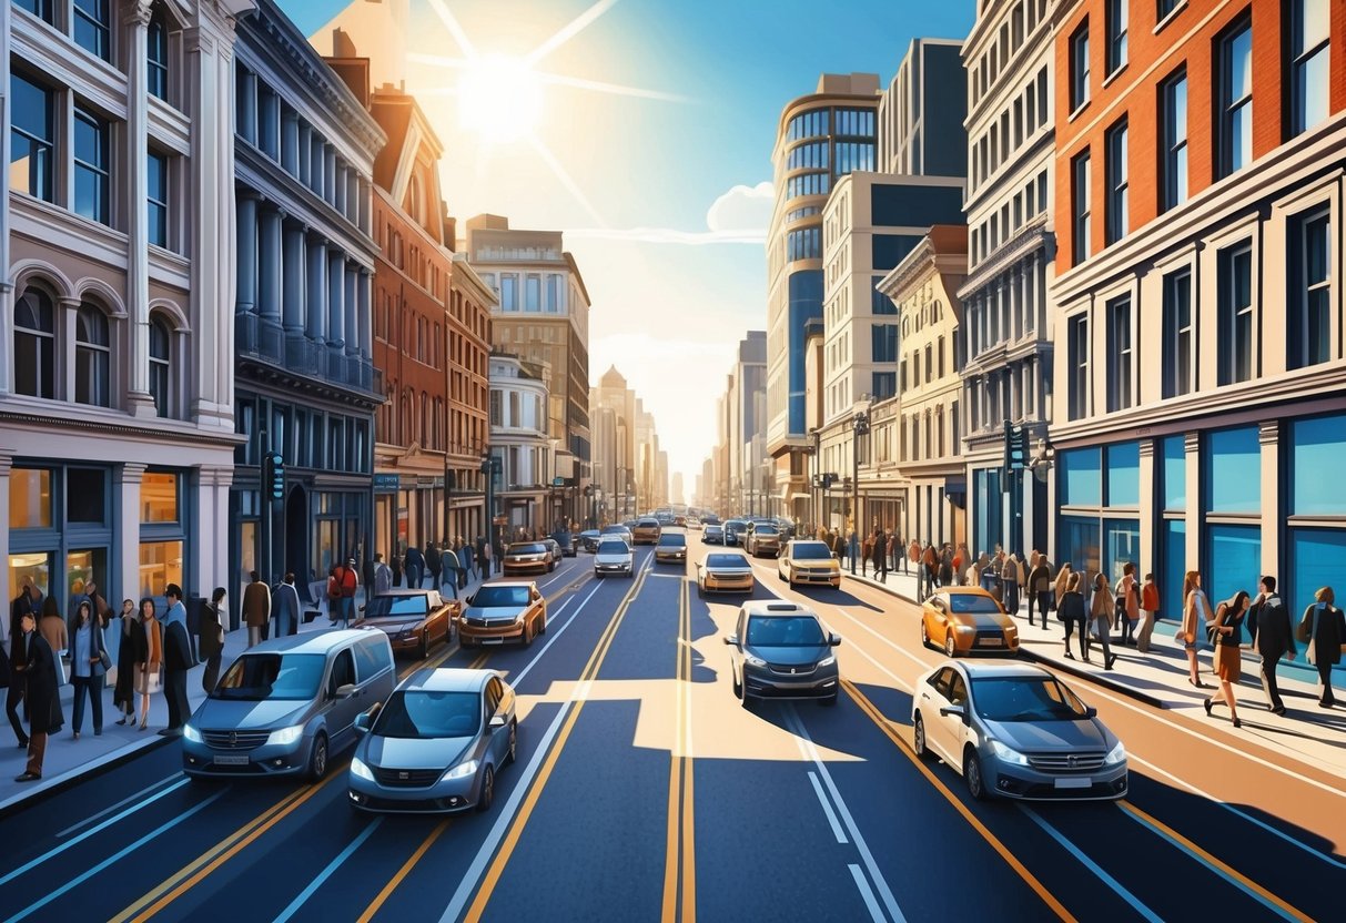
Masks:
[[[279,3],[306,35],[347,5]],[[444,144],[450,214],[564,231],[594,304],[590,378],[616,366],[690,492],[738,342],[766,328],[781,109],[822,73],[876,73],[887,86],[913,38],[964,38],[975,9],[411,0],[405,82]]]

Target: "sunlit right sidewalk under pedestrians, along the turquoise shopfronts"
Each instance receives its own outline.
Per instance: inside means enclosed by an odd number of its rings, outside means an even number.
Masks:
[[[861,576],[859,572],[852,577],[847,568],[843,568],[841,573],[847,580],[875,587],[913,604],[917,601],[914,576],[888,572],[887,581],[880,584],[872,576]],[[1211,675],[1210,647],[1203,646],[1198,662],[1202,682],[1211,688],[1195,689],[1187,682],[1187,657],[1174,639],[1176,622],[1160,619],[1155,624],[1149,651],[1145,654],[1113,642],[1112,651],[1117,655],[1117,662],[1112,670],[1104,670],[1102,651],[1097,643],[1090,650],[1092,665],[1063,657],[1065,626],[1057,620],[1054,612],[1050,614],[1046,627],[1040,619],[1035,619],[1035,626],[1028,624],[1026,601],[1022,601],[1019,611],[1011,616],[1019,624],[1019,653],[1024,659],[1042,663],[1058,673],[1088,678],[1154,708],[1171,709],[1202,723],[1209,721],[1214,727],[1230,728],[1228,709],[1224,709],[1222,720],[1211,720],[1202,708],[1202,701],[1214,692],[1215,685],[1215,678]],[[1261,658],[1249,647],[1244,647],[1242,679],[1234,692],[1244,727],[1242,731],[1232,733],[1256,735],[1260,743],[1273,745],[1287,755],[1329,771],[1346,774],[1346,708],[1318,706],[1318,674],[1304,663],[1304,646],[1298,647],[1299,657],[1294,662],[1281,661],[1277,670],[1280,694],[1287,708],[1284,716],[1269,712],[1259,678]],[[1073,653],[1079,657],[1078,640],[1074,642]],[[1338,698],[1343,698],[1341,690],[1346,689],[1346,670],[1338,666],[1334,678]]]

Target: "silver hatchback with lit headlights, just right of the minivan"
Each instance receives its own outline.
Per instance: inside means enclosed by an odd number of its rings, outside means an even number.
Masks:
[[[485,811],[518,749],[514,690],[494,670],[417,670],[355,731],[347,797],[366,811]]]

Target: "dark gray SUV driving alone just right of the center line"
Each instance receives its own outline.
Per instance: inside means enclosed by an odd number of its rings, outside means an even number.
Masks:
[[[734,694],[748,698],[816,698],[837,701],[841,636],[829,632],[812,610],[798,603],[754,601],[739,610],[736,634],[724,639],[732,651]]]

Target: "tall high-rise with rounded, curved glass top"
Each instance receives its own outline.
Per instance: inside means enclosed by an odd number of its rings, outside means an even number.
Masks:
[[[775,207],[767,229],[767,429],[782,514],[808,514],[805,327],[821,319],[822,206],[833,184],[876,163],[876,74],[822,74],[781,112],[771,155]]]

